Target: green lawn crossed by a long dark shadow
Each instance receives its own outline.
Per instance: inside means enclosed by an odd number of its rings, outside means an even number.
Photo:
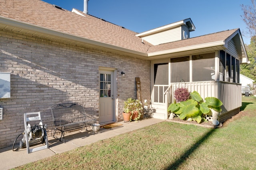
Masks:
[[[220,129],[163,122],[16,169],[254,170],[256,98]]]

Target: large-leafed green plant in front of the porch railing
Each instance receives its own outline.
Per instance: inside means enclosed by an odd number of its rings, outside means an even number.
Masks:
[[[182,120],[192,119],[200,123],[204,118],[202,115],[212,115],[211,109],[220,112],[222,102],[215,97],[205,98],[203,101],[200,94],[196,91],[190,93],[191,99],[184,102],[176,103],[176,101],[168,107],[168,111],[176,113]]]

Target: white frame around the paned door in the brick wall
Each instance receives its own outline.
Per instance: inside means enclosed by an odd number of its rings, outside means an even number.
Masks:
[[[113,71],[113,122],[116,122],[117,120],[117,113],[118,113],[118,108],[117,108],[117,99],[116,99],[116,74],[117,74],[117,69],[116,68],[110,68],[110,67],[102,67],[102,66],[99,66],[98,68],[99,72],[98,72],[98,75],[100,76],[100,72],[101,71]],[[100,77],[98,77],[98,94],[99,94],[99,101],[100,101]],[[100,105],[100,102],[99,102],[99,105]],[[100,106],[99,106],[100,108]],[[99,114],[100,114],[100,110],[99,110]],[[111,123],[111,122],[109,122]],[[104,123],[105,124],[105,123]]]

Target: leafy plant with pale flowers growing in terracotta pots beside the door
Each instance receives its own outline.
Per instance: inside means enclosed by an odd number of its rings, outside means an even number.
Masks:
[[[128,98],[124,102],[124,112],[125,113],[132,113],[134,114],[134,111],[138,111],[138,117],[135,118],[135,120],[139,119],[141,116],[141,112],[143,111],[142,103],[140,100],[135,100],[133,98]],[[131,115],[131,117],[132,117]],[[130,117],[130,119],[131,119]]]

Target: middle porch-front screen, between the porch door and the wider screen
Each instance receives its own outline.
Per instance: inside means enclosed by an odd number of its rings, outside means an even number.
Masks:
[[[171,59],[171,82],[190,82],[189,56]]]

